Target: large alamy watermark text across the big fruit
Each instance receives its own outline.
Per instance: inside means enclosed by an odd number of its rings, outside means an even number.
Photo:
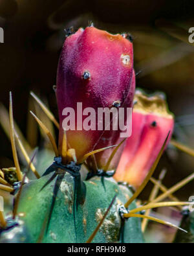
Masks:
[[[63,130],[119,130],[120,137],[131,136],[132,108],[82,108],[82,103],[77,102],[74,108],[64,108],[62,126]]]

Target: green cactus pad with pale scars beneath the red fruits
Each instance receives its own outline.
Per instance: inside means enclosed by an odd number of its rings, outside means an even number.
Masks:
[[[30,231],[27,242],[86,242],[96,228],[107,207],[114,201],[107,218],[92,242],[120,242],[121,218],[118,206],[131,196],[127,187],[119,186],[113,179],[105,179],[105,189],[100,178],[84,181],[85,202],[74,207],[74,178],[65,173],[59,185],[58,194],[49,220],[50,205],[56,184],[55,177],[48,185],[54,172],[39,180],[30,181],[23,187],[19,210],[21,219]],[[45,186],[45,187],[44,187]],[[43,188],[44,187],[44,188]],[[130,208],[135,208],[135,203]],[[143,242],[140,220],[129,218],[124,222],[122,242]]]

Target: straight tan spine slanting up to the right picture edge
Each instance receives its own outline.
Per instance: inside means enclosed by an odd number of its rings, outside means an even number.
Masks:
[[[155,198],[155,200],[153,200],[152,203],[157,203],[157,202],[160,202],[160,201],[164,200],[164,198],[169,196],[169,194],[172,194],[172,193],[178,191],[178,189],[184,187],[184,185],[186,185],[187,183],[189,183],[189,181],[191,181],[193,179],[194,179],[194,172],[192,174],[190,174],[187,178],[185,178],[184,180],[178,182],[173,187],[168,189],[166,192],[164,192],[163,194],[161,194],[160,196]]]

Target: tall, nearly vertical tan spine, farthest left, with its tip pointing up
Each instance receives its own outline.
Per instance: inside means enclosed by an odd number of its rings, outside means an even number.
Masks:
[[[19,181],[22,180],[22,173],[19,166],[19,161],[17,157],[17,150],[16,150],[16,142],[14,136],[14,117],[13,117],[13,104],[12,104],[12,92],[10,91],[10,141],[12,145],[12,154],[14,157],[14,163],[16,165],[16,172],[17,172],[17,179]]]

